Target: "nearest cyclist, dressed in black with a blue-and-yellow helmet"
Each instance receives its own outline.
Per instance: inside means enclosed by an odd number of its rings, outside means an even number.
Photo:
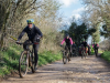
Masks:
[[[40,42],[40,39],[43,37],[41,30],[37,27],[35,27],[33,19],[29,19],[26,20],[26,22],[28,22],[28,25],[23,29],[23,31],[19,35],[16,43],[20,42],[24,33],[26,33],[29,37],[29,40],[26,40],[25,42],[28,41],[31,41],[32,43]],[[37,69],[36,64],[38,60],[38,55],[37,55],[38,45],[40,44],[33,44],[34,55],[35,55],[35,70]]]

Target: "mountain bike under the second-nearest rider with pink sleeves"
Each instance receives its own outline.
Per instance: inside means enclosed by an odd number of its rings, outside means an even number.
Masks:
[[[68,46],[66,45],[62,52],[63,52],[63,63],[66,64],[67,60],[69,62],[69,56],[70,56]]]

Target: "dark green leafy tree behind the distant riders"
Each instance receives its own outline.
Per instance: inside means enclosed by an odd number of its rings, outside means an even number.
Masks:
[[[96,30],[88,29],[85,23],[81,23],[80,25],[77,25],[76,22],[72,22],[72,25],[66,33],[69,33],[70,38],[76,42],[76,44],[80,44],[81,40],[87,40],[89,35],[91,35]]]

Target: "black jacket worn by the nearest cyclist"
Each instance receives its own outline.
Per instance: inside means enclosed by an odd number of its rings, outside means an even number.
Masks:
[[[18,40],[21,40],[25,32],[26,32],[26,34],[29,37],[29,40],[31,40],[31,41],[35,41],[38,35],[43,37],[43,34],[40,31],[40,29],[33,24],[32,29],[30,29],[29,27],[25,27],[24,30],[19,35]]]

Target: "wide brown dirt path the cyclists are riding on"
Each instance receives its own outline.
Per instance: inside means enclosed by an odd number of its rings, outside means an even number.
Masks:
[[[38,68],[35,74],[19,75],[1,83],[110,83],[110,68],[102,59],[73,58],[67,64],[62,61]]]

